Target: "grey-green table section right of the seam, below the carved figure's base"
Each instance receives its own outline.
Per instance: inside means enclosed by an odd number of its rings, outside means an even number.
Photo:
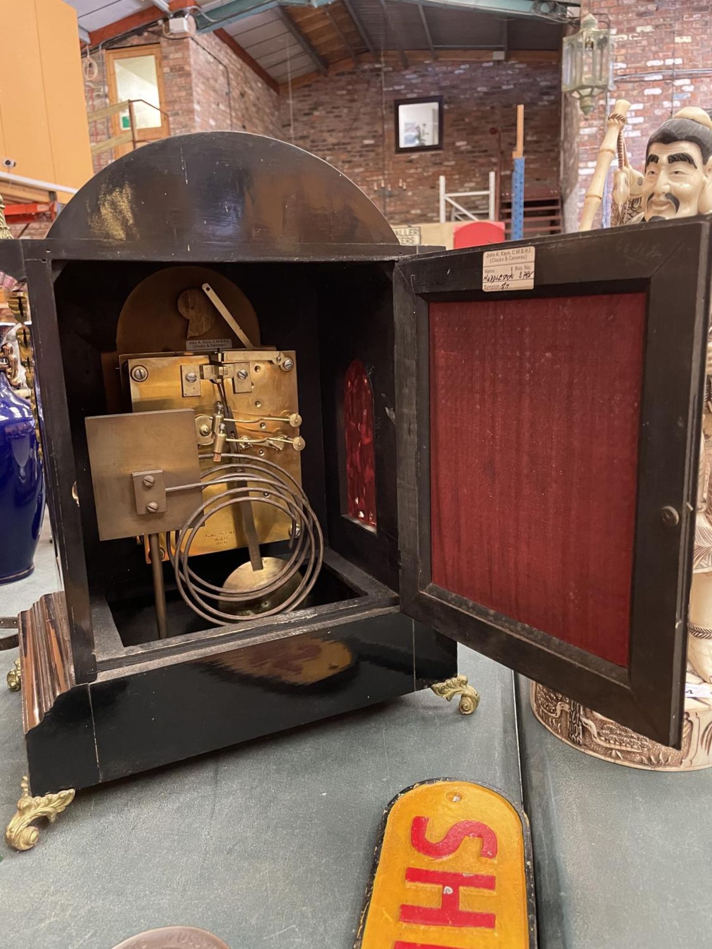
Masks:
[[[660,773],[582,754],[517,681],[544,949],[712,946],[712,769]]]

